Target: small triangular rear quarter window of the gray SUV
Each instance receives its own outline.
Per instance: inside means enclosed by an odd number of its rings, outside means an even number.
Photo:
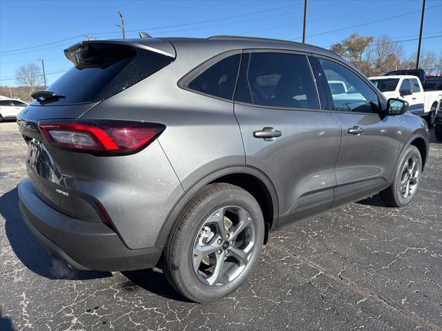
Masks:
[[[241,54],[231,55],[213,64],[188,85],[191,90],[223,99],[233,99]]]

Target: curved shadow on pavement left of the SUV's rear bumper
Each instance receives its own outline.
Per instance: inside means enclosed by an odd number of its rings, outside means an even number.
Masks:
[[[17,188],[0,197],[0,214],[6,220],[5,231],[12,250],[32,272],[48,279],[80,280],[112,276],[111,272],[71,269],[66,263],[52,259],[21,218]]]

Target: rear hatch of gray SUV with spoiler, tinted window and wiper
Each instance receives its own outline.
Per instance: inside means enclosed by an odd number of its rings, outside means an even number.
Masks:
[[[171,43],[160,39],[128,39],[84,41],[66,49],[64,53],[74,67],[52,83],[46,92],[35,93],[35,101],[17,118],[19,130],[28,143],[28,176],[35,192],[52,208],[77,219],[99,221],[99,218],[93,217],[96,207],[90,205],[84,194],[73,190],[76,179],[73,155],[88,150],[70,148],[63,140],[58,144],[51,142],[51,136],[47,132],[46,135],[42,133],[42,123],[62,123],[63,126],[60,125],[61,129],[56,132],[58,136],[54,137],[55,140],[66,139],[66,131],[62,128],[71,128],[71,123],[81,124],[81,115],[101,101],[167,66],[175,59],[175,50]],[[94,129],[103,123],[103,132],[113,130],[116,132],[116,135],[111,135],[113,139],[122,138],[121,132],[115,130],[115,123],[102,121],[101,124],[88,125]],[[135,134],[156,132],[156,129],[140,128],[136,124],[133,130]],[[69,136],[68,139],[73,137]],[[80,132],[76,139],[80,143],[88,143],[90,137],[87,134],[81,137]],[[91,143],[94,143],[94,139]],[[91,154],[94,152],[97,151],[90,151]],[[124,152],[131,150],[123,150],[120,154]]]

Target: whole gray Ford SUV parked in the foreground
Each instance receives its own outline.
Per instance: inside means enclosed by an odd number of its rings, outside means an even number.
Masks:
[[[212,301],[249,277],[269,232],[378,192],[396,207],[416,194],[425,122],[328,50],[219,36],[64,52],[74,67],[17,119],[19,205],[73,268],[158,266]]]

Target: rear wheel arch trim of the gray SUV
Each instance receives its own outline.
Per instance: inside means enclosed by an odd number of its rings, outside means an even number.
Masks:
[[[270,179],[260,170],[247,165],[237,165],[215,170],[207,174],[205,177],[196,181],[191,185],[191,188],[182,194],[164,221],[155,243],[157,248],[162,248],[166,244],[173,223],[175,223],[175,220],[180,215],[186,203],[195,196],[198,191],[204,188],[204,186],[211,183],[230,183],[237,185],[247,190],[247,192],[258,201],[265,220],[265,243],[267,242],[269,231],[273,230],[278,223],[279,209],[276,189],[273,187],[273,183],[271,183]]]

